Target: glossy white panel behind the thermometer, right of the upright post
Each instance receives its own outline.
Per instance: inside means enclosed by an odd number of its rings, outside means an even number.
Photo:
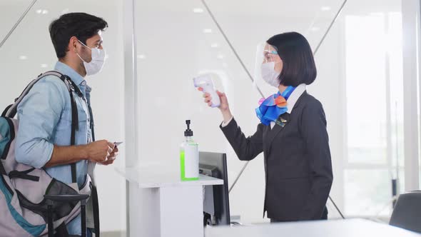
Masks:
[[[137,71],[139,95],[139,162],[166,163],[178,176],[178,149],[185,120],[191,119],[200,151],[228,155],[228,184],[240,173],[239,161],[218,127],[218,109],[203,103],[193,77],[213,74],[215,86],[228,96],[235,119],[246,135],[259,123],[255,108],[262,95],[276,93],[253,84],[240,61],[254,73],[258,44],[275,34],[298,31],[315,49],[342,1],[206,1],[240,60],[202,1],[136,1]],[[263,221],[265,193],[263,155],[251,161],[230,193],[230,211],[241,221]]]

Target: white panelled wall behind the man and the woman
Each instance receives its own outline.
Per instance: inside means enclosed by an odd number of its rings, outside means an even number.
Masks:
[[[0,37],[6,34],[26,1],[1,1]],[[93,109],[96,114],[97,138],[123,139],[123,42],[121,1],[72,1],[63,6],[57,1],[40,1],[34,9],[48,9],[49,14],[31,11],[6,45],[0,49],[2,85],[0,108],[16,97],[33,76],[46,69],[41,64],[54,65],[55,56],[47,26],[61,11],[86,11],[103,16],[110,28],[104,34],[110,58],[101,75],[88,80],[93,86]],[[322,38],[342,1],[223,1],[208,2],[247,69],[253,74],[256,45],[273,34],[299,31],[305,34],[313,49]],[[228,176],[232,183],[244,162],[238,161],[225,141],[218,125],[218,109],[209,109],[201,93],[193,88],[192,78],[201,71],[220,74],[218,89],[225,91],[241,128],[247,135],[255,131],[258,119],[254,109],[260,95],[253,87],[232,51],[202,8],[201,1],[136,1],[136,34],[138,51],[140,163],[160,162],[178,173],[178,146],[183,140],[184,120],[192,120],[192,128],[201,151],[228,154]],[[330,11],[321,11],[330,6]],[[367,15],[377,11],[395,11],[400,1],[348,1],[346,14]],[[203,29],[212,29],[204,34]],[[345,202],[344,168],[346,151],[345,53],[343,16],[333,26],[318,54],[318,79],[308,91],[324,106],[328,119],[330,148],[333,158],[334,182],[331,196],[342,208]],[[218,48],[210,45],[217,43]],[[361,52],[363,55],[363,52]],[[28,56],[20,60],[19,56]],[[222,58],[222,59],[218,59]],[[24,70],[23,70],[24,69]],[[275,93],[261,81],[265,96]],[[6,88],[6,89],[5,89]],[[117,166],[123,166],[124,146]],[[125,183],[113,167],[98,167],[101,197],[101,224],[104,231],[126,228]],[[263,156],[250,162],[237,186],[230,193],[231,215],[240,215],[245,222],[264,221]],[[374,197],[373,197],[374,198]],[[357,200],[355,200],[357,202]],[[330,217],[338,213],[329,205]]]

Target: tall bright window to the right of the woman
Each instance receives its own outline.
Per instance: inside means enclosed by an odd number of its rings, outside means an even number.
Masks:
[[[345,76],[345,213],[389,215],[403,173],[400,12],[345,17]]]

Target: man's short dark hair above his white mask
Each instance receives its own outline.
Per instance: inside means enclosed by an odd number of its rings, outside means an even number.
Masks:
[[[98,31],[104,31],[107,27],[106,21],[86,13],[69,13],[60,16],[59,19],[51,22],[49,27],[57,58],[66,56],[71,37],[76,36],[78,40],[86,44],[86,39],[98,34]]]

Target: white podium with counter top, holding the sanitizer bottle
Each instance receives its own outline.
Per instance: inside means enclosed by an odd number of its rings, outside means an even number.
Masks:
[[[166,168],[116,168],[128,181],[128,218],[131,237],[201,237],[203,186],[223,180],[201,175],[181,181]]]

